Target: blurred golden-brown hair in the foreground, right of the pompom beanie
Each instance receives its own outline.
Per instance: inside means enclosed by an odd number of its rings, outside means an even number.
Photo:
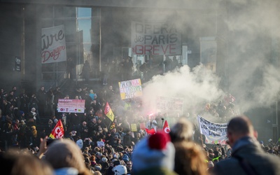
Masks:
[[[202,148],[193,142],[176,142],[174,171],[178,174],[206,175],[207,163]]]

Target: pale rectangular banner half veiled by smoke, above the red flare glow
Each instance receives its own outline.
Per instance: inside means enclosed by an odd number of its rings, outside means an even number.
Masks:
[[[157,97],[156,109],[161,113],[183,114],[183,98],[179,97]]]

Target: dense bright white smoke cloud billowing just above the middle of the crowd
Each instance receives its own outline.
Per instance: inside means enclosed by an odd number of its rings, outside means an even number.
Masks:
[[[184,114],[193,108],[208,102],[217,102],[225,94],[218,87],[221,78],[200,65],[190,71],[183,66],[176,71],[154,76],[144,84],[143,102],[145,109],[155,111],[157,97],[180,97],[184,102]]]

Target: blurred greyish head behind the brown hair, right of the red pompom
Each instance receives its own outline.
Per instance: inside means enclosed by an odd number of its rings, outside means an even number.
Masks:
[[[193,124],[186,118],[179,118],[169,132],[172,143],[176,141],[191,141],[193,139]]]

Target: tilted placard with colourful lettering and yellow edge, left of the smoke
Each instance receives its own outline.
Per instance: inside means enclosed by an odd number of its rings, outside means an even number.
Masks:
[[[118,83],[120,87],[120,98],[130,99],[142,96],[141,79],[125,80]]]

